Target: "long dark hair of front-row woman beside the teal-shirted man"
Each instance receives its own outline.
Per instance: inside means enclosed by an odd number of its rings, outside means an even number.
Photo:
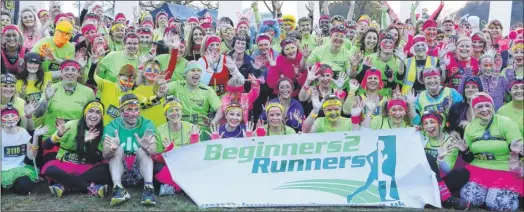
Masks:
[[[85,109],[87,108],[89,104],[91,104],[91,102],[100,103],[100,101],[98,100],[90,101],[84,106],[82,112],[85,111]],[[102,105],[102,112],[103,112],[105,110],[104,105],[102,103],[100,104]],[[76,137],[75,137],[76,154],[78,154],[79,159],[84,158],[84,156],[86,155],[86,152],[84,152],[84,145],[85,145],[85,131],[87,129],[88,128],[87,128],[87,123],[86,123],[86,116],[84,114],[82,115],[82,118],[80,118],[80,120],[78,121],[78,126],[76,128],[77,130]],[[104,132],[104,115],[103,114],[102,114],[102,117],[100,118],[100,122],[95,126],[95,129],[98,130],[100,134],[98,134],[98,136],[90,142],[91,145],[89,145],[88,149],[86,149],[87,155],[93,155],[98,149],[100,138],[102,137],[102,134]]]

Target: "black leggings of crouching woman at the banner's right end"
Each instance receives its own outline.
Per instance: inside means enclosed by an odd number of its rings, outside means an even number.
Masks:
[[[460,189],[469,181],[469,171],[467,169],[456,169],[450,171],[446,176],[440,177],[440,169],[437,165],[437,159],[428,154],[426,154],[426,158],[428,159],[431,170],[435,172],[437,181],[444,181],[446,186],[448,186],[449,192],[451,192],[453,196],[460,196]]]

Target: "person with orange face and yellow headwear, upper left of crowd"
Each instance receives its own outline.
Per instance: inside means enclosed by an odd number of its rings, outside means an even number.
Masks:
[[[39,53],[45,58],[42,62],[45,72],[58,73],[64,60],[75,57],[75,45],[69,42],[72,34],[73,25],[69,21],[61,21],[56,25],[53,37],[43,38],[33,46],[31,52]]]

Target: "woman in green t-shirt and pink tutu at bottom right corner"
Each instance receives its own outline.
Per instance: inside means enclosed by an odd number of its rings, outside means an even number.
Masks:
[[[522,135],[510,118],[495,114],[489,94],[476,94],[471,106],[475,118],[464,131],[464,142],[456,144],[470,172],[460,196],[490,210],[517,210],[524,194],[518,164],[524,155]]]

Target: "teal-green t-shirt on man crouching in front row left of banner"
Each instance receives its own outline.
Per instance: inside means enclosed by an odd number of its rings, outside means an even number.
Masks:
[[[122,118],[117,118],[111,121],[111,123],[104,127],[104,137],[106,135],[114,137],[115,130],[117,130],[118,137],[120,139],[120,144],[122,145],[125,154],[135,154],[135,152],[139,148],[141,148],[140,144],[135,138],[135,133],[138,134],[139,138],[142,138],[142,136],[144,136],[147,130],[151,130],[154,133],[157,141],[156,145],[162,145],[162,141],[158,139],[158,133],[156,132],[155,125],[153,125],[153,122],[140,116],[138,117],[136,127],[133,129],[127,129],[126,127],[124,127],[124,123],[122,122]]]

